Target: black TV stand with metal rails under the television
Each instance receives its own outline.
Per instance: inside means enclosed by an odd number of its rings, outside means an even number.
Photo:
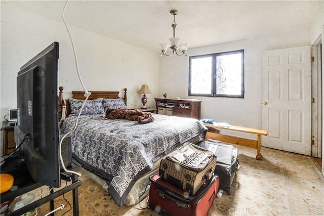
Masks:
[[[21,158],[10,158],[8,161],[5,162],[1,167],[1,173],[8,173],[14,176],[14,185],[16,186],[16,190],[12,191],[7,191],[6,193],[1,194],[1,203],[6,202],[8,200],[13,200],[16,197],[28,193],[32,190],[35,190],[37,188],[43,187],[44,185],[41,183],[36,183],[32,180],[27,167],[25,164],[22,162]],[[68,169],[77,171],[79,169],[80,165],[73,161],[72,166],[68,167]],[[63,177],[64,176],[64,177]],[[63,179],[63,178],[64,179]],[[63,188],[57,188],[55,192],[51,190],[49,195],[43,196],[43,198],[40,198],[22,208],[19,208],[18,210],[14,212],[10,212],[8,214],[5,214],[6,216],[8,215],[22,215],[23,213],[34,209],[38,206],[41,206],[47,202],[50,202],[50,211],[54,210],[54,199],[69,192],[72,191],[72,207],[73,207],[73,215],[77,216],[78,213],[78,187],[81,185],[81,181],[78,179],[77,175],[70,175],[66,172],[63,172],[63,175],[61,176],[63,180],[70,180],[72,183],[66,187]],[[54,213],[52,213],[54,215]]]

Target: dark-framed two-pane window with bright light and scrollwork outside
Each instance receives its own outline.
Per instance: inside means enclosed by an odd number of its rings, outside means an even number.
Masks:
[[[189,57],[189,96],[244,98],[244,50]]]

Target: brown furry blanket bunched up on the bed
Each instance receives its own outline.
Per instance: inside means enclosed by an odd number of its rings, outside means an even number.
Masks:
[[[127,120],[137,121],[140,124],[145,124],[154,121],[152,113],[142,112],[139,109],[107,109],[106,118],[125,118]]]

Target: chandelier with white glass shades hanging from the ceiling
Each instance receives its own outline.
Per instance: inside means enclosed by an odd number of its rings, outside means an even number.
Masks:
[[[162,51],[162,54],[161,56],[165,55],[165,56],[172,56],[173,54],[177,54],[177,56],[182,56],[182,55],[185,55],[187,56],[185,53],[188,49],[188,44],[181,44],[178,46],[179,44],[179,40],[180,38],[179,37],[176,37],[176,15],[178,14],[178,11],[177,10],[171,10],[170,11],[170,14],[173,15],[173,22],[172,22],[172,28],[173,28],[173,37],[170,37],[169,40],[171,42],[171,46],[168,45],[168,44],[160,44],[160,47],[161,47],[161,51]],[[166,54],[166,51],[168,49],[168,47],[171,48],[172,50],[172,53],[167,55]],[[179,51],[180,50],[180,54],[178,54],[177,50]]]

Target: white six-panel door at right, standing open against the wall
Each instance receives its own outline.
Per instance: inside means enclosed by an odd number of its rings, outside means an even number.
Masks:
[[[310,47],[263,55],[262,146],[311,154]]]

